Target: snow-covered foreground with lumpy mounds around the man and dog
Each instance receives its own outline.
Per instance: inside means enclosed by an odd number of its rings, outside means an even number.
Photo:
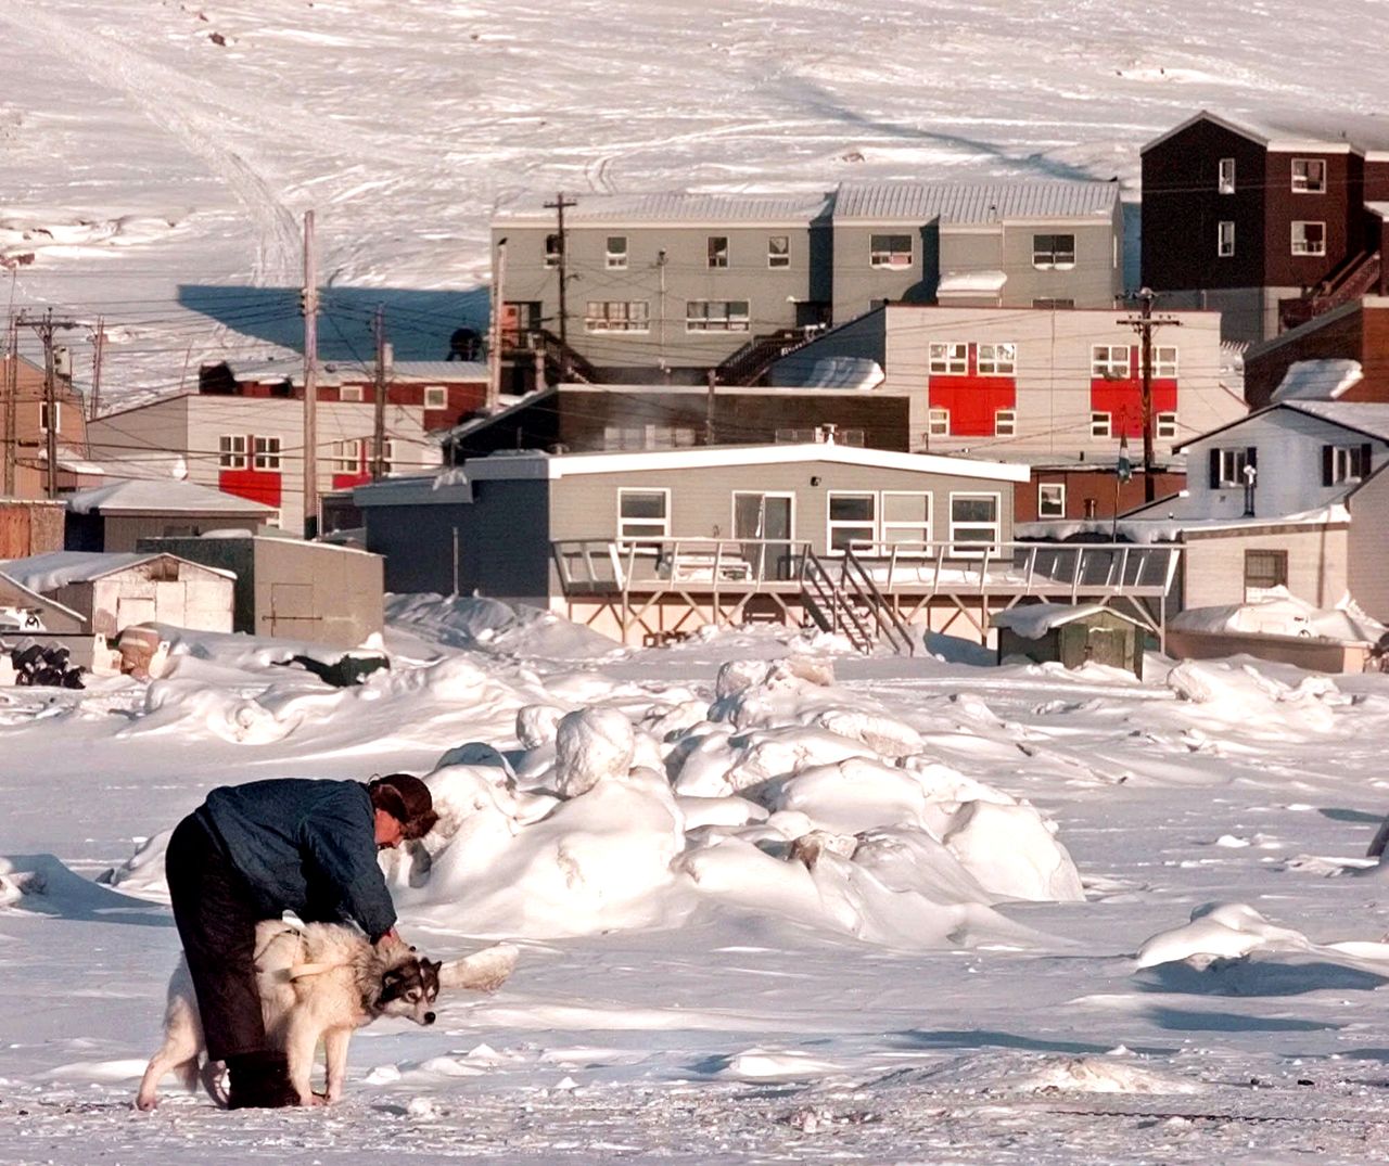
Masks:
[[[3,694],[0,1160],[1383,1160],[1389,677],[392,611],[357,690],[189,636],[160,682]],[[161,831],[397,768],[446,805],[404,933],[510,938],[511,980],[361,1031],[332,1110],[132,1112]]]

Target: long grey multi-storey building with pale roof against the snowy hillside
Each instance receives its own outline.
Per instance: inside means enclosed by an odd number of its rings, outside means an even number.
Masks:
[[[758,336],[843,323],[889,300],[1108,307],[1122,229],[1108,182],[579,196],[563,239],[539,201],[493,219],[494,294],[506,337],[563,333],[606,380],[658,369],[703,382]]]

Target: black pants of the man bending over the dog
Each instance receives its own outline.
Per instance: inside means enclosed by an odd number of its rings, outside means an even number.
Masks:
[[[260,1052],[265,1020],[256,987],[256,924],[264,912],[221,841],[196,816],[174,829],[164,870],[208,1058]]]

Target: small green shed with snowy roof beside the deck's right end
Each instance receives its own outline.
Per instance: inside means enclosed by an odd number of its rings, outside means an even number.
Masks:
[[[1024,604],[990,620],[999,633],[999,662],[1010,655],[1067,668],[1107,664],[1143,679],[1147,629],[1103,604]]]

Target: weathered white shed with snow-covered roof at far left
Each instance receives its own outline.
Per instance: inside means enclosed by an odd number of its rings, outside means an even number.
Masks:
[[[54,551],[0,565],[32,591],[79,612],[114,640],[132,623],[232,630],[236,576],[171,554]]]

